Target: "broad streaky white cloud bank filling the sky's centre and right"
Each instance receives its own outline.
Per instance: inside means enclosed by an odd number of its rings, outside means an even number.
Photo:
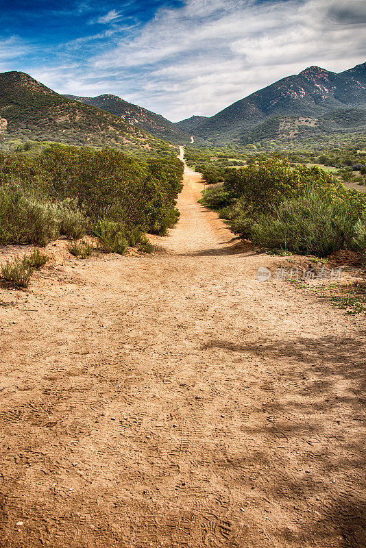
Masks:
[[[186,0],[127,34],[118,34],[122,12],[111,10],[98,20],[117,21],[111,34],[77,44],[106,39],[102,53],[58,89],[114,93],[173,121],[209,116],[306,66],[339,72],[364,62],[365,8],[359,0]]]

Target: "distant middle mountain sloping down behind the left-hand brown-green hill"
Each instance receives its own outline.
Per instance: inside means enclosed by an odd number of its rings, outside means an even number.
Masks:
[[[117,95],[98,95],[98,97],[78,97],[77,95],[64,95],[73,101],[80,101],[86,105],[106,110],[114,116],[119,116],[129,124],[137,125],[151,135],[173,142],[189,142],[190,138],[180,127],[170,122],[160,114],[146,110],[143,107],[127,103]]]

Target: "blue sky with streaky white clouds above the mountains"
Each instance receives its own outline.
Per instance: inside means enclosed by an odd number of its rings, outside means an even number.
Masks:
[[[0,72],[171,121],[366,60],[366,0],[0,0]]]

